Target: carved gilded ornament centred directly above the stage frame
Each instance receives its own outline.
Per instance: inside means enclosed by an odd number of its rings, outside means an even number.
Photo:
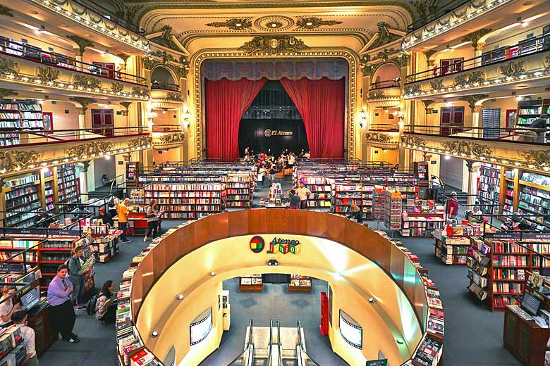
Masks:
[[[243,51],[247,55],[252,53],[270,53],[278,55],[281,53],[296,53],[310,49],[302,39],[293,36],[256,36],[252,41],[246,42],[238,48],[238,51]]]

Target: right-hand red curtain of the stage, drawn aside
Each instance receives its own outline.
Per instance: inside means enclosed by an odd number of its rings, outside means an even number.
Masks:
[[[302,115],[312,158],[343,158],[346,80],[281,79]]]

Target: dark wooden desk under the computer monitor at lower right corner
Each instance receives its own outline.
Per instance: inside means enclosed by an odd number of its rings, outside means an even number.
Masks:
[[[539,327],[533,320],[525,320],[508,306],[504,308],[504,347],[523,365],[544,365],[546,341],[550,329]]]

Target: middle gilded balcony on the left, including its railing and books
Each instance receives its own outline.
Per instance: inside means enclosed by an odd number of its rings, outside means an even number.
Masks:
[[[71,95],[111,100],[149,99],[144,77],[4,37],[0,37],[0,87],[51,94],[71,90]]]

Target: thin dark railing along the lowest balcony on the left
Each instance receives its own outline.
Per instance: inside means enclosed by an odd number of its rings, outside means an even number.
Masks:
[[[7,134],[18,134],[19,139],[11,138],[13,144],[0,146],[2,149],[12,149],[14,146],[31,146],[41,144],[61,144],[71,141],[85,141],[94,139],[106,139],[116,137],[129,137],[149,134],[147,127],[109,127],[98,126],[82,130],[1,130],[0,138],[7,139]]]

